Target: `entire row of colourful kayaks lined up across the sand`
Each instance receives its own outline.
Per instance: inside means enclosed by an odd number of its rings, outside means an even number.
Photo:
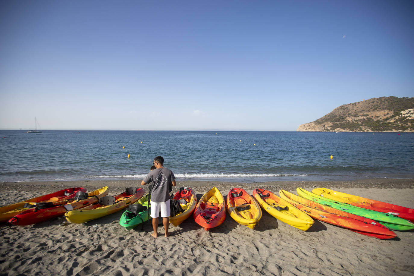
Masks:
[[[298,187],[296,192],[299,196],[280,190],[279,197],[268,190],[255,189],[252,196],[241,188],[233,188],[225,201],[214,187],[197,202],[193,189],[181,187],[172,199],[174,212],[170,223],[178,226],[193,215],[196,223],[209,230],[224,222],[227,210],[237,223],[253,229],[263,209],[304,231],[313,225],[313,218],[379,239],[395,238],[397,235],[392,230],[414,229],[414,209],[326,188],[309,192]],[[150,197],[136,187],[129,187],[116,196],[108,196],[108,187],[89,193],[82,187],[69,188],[2,206],[0,222],[24,226],[65,215],[71,223],[84,223],[126,208],[119,223],[132,229],[148,221]]]

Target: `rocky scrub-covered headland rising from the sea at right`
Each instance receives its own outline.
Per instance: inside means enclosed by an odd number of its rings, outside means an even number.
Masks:
[[[414,97],[391,96],[349,103],[318,120],[300,125],[297,131],[413,132]]]

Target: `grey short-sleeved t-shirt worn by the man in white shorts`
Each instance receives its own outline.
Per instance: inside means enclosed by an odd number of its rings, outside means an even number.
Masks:
[[[176,180],[173,172],[167,168],[159,168],[150,171],[144,178],[145,183],[152,182],[151,201],[166,202],[170,199],[168,187]]]

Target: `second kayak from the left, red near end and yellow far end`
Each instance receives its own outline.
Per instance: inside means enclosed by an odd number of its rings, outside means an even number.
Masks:
[[[90,204],[99,202],[101,197],[108,194],[108,187],[102,187],[90,193],[77,192],[75,197],[67,199],[64,204],[54,205],[52,202],[45,203],[42,206],[27,209],[16,216],[10,218],[9,223],[14,225],[31,225],[42,221],[47,221],[57,216],[62,216],[66,211],[79,209]]]

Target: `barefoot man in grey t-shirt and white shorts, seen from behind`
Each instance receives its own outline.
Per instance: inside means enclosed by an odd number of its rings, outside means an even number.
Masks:
[[[168,194],[168,187],[170,185],[176,186],[176,180],[173,172],[164,168],[164,158],[157,156],[154,158],[154,166],[156,169],[148,173],[148,175],[142,180],[141,185],[145,185],[152,182],[151,191],[151,217],[152,228],[154,233],[151,235],[156,238],[158,236],[158,215],[161,210],[162,223],[164,224],[165,236],[168,237],[168,223],[170,223],[169,216],[170,210],[170,196]]]

